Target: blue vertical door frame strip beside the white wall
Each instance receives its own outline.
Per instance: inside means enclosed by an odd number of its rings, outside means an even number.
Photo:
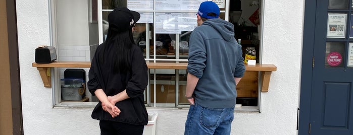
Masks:
[[[309,134],[310,102],[313,77],[316,0],[305,1],[301,57],[298,134]]]

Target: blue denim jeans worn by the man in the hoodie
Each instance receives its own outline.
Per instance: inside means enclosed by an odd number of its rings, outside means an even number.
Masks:
[[[234,107],[206,108],[190,105],[184,134],[230,134],[234,119]]]

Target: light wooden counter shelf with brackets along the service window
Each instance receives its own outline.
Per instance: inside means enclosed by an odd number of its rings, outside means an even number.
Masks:
[[[146,62],[148,69],[175,69],[186,70],[187,63],[173,63],[173,62]],[[52,78],[50,73],[51,67],[82,67],[89,68],[90,61],[54,61],[52,63],[32,63],[33,67],[37,67],[40,77],[43,81],[44,87],[52,87]],[[256,64],[246,65],[246,71],[261,72],[261,91],[268,92],[271,73],[277,70],[274,64]]]

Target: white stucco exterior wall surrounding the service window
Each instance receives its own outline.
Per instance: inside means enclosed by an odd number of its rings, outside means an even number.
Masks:
[[[304,1],[266,0],[262,63],[272,63],[269,92],[261,93],[261,113],[236,112],[232,134],[296,134]],[[34,49],[49,44],[47,1],[16,1],[24,134],[99,134],[92,108],[53,108],[32,67]],[[187,109],[158,112],[157,134],[183,134]]]

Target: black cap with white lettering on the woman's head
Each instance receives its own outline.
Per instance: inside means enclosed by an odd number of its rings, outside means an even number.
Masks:
[[[128,8],[116,8],[108,15],[109,29],[122,32],[131,29],[140,19],[140,14]]]

